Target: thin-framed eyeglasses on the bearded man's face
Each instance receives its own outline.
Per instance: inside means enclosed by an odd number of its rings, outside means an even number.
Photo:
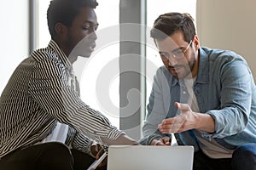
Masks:
[[[177,48],[174,51],[172,51],[172,57],[174,59],[183,59],[191,43],[192,43],[192,40],[190,40],[189,45],[186,48]],[[162,61],[166,62],[170,59],[170,54],[165,52],[160,52],[160,57]]]

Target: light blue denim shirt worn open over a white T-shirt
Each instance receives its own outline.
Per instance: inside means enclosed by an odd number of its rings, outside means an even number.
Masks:
[[[246,60],[220,49],[200,48],[199,53],[199,71],[193,89],[201,113],[210,114],[215,120],[215,132],[205,132],[203,137],[214,138],[227,149],[256,143],[256,91]],[[188,99],[183,80],[177,80],[164,66],[160,67],[154,76],[141,144],[166,136],[158,131],[157,125],[178,114],[175,102],[186,103]],[[177,144],[194,145],[198,150],[193,131],[175,133]]]

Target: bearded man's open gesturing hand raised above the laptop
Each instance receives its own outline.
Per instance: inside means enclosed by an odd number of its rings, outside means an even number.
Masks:
[[[174,104],[180,114],[172,118],[163,120],[158,126],[161,133],[182,133],[192,128],[196,128],[196,114],[193,112],[188,104],[175,103]]]

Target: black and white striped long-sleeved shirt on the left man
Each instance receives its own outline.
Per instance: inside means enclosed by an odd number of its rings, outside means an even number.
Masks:
[[[89,152],[86,136],[117,139],[122,133],[79,98],[73,67],[51,40],[16,68],[0,98],[0,157],[45,139],[56,122],[69,126],[66,144]]]

